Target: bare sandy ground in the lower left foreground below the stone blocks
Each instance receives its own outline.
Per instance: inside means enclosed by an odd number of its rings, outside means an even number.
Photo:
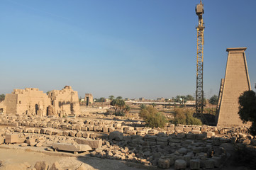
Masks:
[[[156,169],[155,167],[146,167],[141,164],[134,164],[130,162],[122,162],[113,159],[100,159],[96,157],[89,157],[84,154],[74,155],[65,152],[46,152],[43,148],[33,147],[18,147],[18,145],[2,145],[0,148],[0,160],[8,164],[18,164],[28,162],[34,165],[35,162],[45,161],[48,164],[58,162],[64,169],[76,169],[82,163],[87,169]]]

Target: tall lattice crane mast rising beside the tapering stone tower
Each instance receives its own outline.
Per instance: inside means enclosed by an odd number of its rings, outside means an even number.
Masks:
[[[201,118],[204,112],[204,90],[203,90],[203,68],[204,68],[204,4],[196,5],[196,15],[199,16],[199,26],[197,30],[196,48],[196,114]]]

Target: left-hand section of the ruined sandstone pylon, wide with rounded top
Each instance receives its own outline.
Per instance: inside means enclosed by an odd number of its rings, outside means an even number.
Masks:
[[[46,115],[50,98],[36,88],[14,89],[4,100],[6,114]]]

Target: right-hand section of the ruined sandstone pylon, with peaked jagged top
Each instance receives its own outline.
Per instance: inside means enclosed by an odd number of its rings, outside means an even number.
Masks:
[[[48,94],[53,106],[49,115],[79,115],[80,106],[77,91],[73,91],[71,86],[65,86],[62,90],[53,90]],[[50,113],[51,112],[51,113]]]

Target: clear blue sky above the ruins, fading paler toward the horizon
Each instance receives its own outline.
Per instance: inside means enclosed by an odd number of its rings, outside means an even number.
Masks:
[[[203,3],[206,98],[218,95],[227,47],[247,47],[253,87],[256,1]],[[196,4],[199,0],[0,1],[0,94],[70,85],[82,97],[194,96]]]

